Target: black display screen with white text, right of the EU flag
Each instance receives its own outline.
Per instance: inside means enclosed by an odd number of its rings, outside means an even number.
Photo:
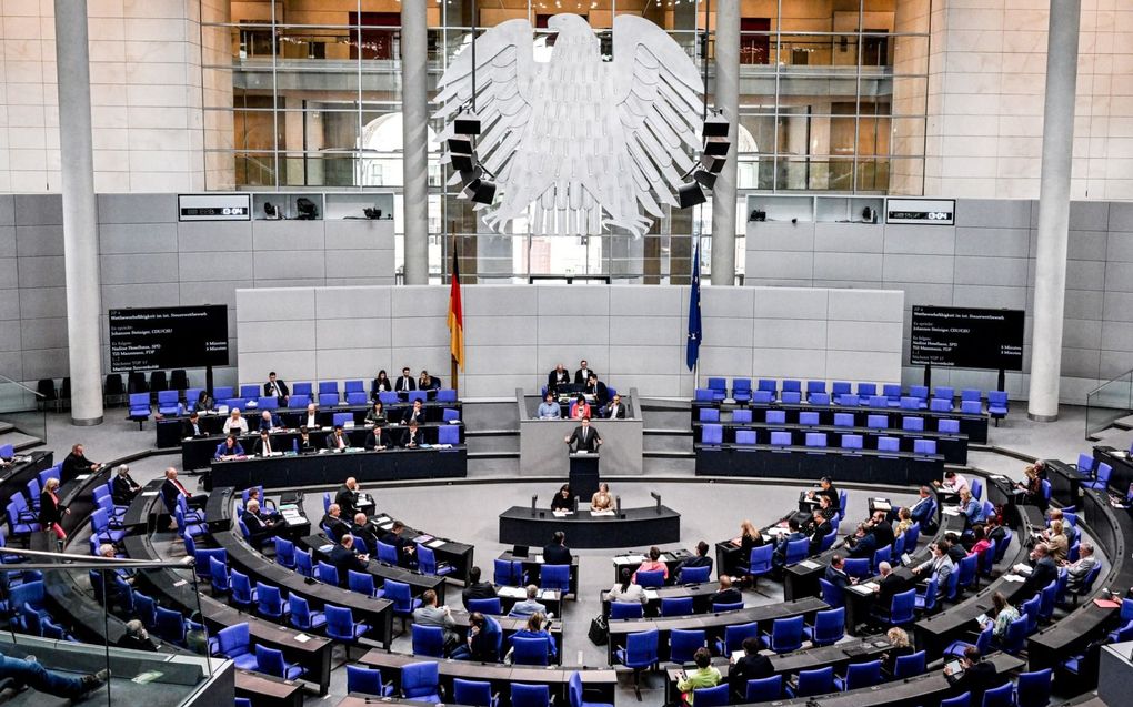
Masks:
[[[1023,370],[1023,310],[913,307],[912,365]]]

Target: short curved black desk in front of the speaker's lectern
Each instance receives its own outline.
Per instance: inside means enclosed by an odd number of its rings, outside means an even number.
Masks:
[[[557,531],[566,534],[571,548],[662,545],[680,542],[681,514],[665,506],[628,508],[611,516],[591,515],[589,510],[556,516],[522,506],[500,514],[500,542],[505,545],[542,546]]]

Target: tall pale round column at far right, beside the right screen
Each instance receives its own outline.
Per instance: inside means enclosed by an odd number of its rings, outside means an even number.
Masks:
[[[1031,420],[1058,419],[1070,178],[1074,156],[1074,101],[1081,0],[1051,0],[1047,38],[1047,93],[1042,118],[1042,173],[1036,256],[1034,326],[1031,334]]]

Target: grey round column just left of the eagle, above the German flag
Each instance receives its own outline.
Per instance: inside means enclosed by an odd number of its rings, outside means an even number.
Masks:
[[[428,284],[428,26],[425,2],[401,3],[406,284]]]

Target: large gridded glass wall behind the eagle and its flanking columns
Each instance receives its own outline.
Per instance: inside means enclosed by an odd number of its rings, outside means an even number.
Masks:
[[[483,32],[526,18],[539,28],[556,12],[573,12],[608,36],[614,17],[630,14],[684,48],[707,77],[713,103],[716,12],[707,0],[427,2],[431,96],[474,25]],[[207,187],[399,192],[400,10],[399,0],[206,5]],[[921,193],[929,10],[930,0],[741,3],[738,207],[749,192]],[[431,129],[432,137],[442,126]],[[493,273],[484,262],[480,277],[564,275],[564,262],[579,274],[617,276],[624,261],[638,265],[622,275],[679,282],[690,267],[689,236],[710,235],[708,205],[666,212],[644,242],[572,239],[569,257],[523,219],[506,234],[485,235],[469,202],[457,198],[459,186],[445,186],[438,145],[431,155],[431,230],[477,235],[479,259],[499,264]],[[738,219],[741,235],[744,221]],[[442,239],[435,240],[440,273]],[[742,268],[742,240],[739,251]]]

